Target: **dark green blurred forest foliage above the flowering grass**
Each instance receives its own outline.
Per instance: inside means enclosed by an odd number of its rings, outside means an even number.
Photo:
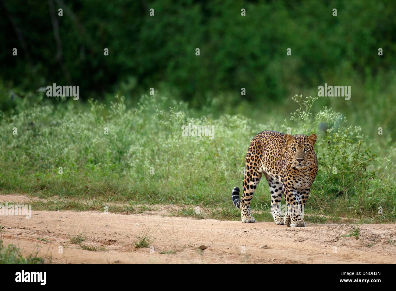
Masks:
[[[78,85],[84,100],[118,93],[132,104],[153,87],[202,107],[219,95],[229,105],[289,102],[295,93],[316,94],[325,82],[352,86],[356,103],[394,83],[392,0],[49,2],[1,1],[3,87]]]

